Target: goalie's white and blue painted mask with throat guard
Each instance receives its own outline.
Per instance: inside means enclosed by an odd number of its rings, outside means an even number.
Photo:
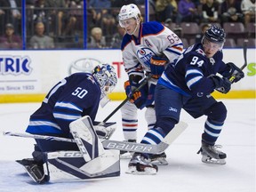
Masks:
[[[107,94],[114,90],[117,83],[115,69],[108,64],[101,64],[93,69],[92,76],[100,84],[100,106],[103,108],[108,103]]]

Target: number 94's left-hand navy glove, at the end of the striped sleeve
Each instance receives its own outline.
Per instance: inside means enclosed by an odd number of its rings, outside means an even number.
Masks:
[[[228,78],[221,78],[220,76],[211,76],[213,84],[215,85],[215,90],[222,93],[228,93],[231,89],[231,82]]]

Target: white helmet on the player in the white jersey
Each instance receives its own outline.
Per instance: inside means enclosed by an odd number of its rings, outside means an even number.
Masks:
[[[136,4],[127,4],[122,6],[119,14],[119,20],[127,20],[130,18],[135,18],[136,20],[139,19],[140,9]]]

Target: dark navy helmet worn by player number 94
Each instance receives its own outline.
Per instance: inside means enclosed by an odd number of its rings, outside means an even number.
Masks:
[[[208,41],[215,44],[224,44],[226,33],[223,28],[219,28],[216,25],[212,25],[206,32],[204,33],[204,37],[202,39],[202,44],[204,42],[204,38]]]

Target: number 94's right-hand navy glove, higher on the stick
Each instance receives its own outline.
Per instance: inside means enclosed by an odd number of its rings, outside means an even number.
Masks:
[[[240,68],[237,68],[234,63],[228,62],[226,65],[228,66],[228,71],[225,71],[223,76],[228,78],[232,83],[236,83],[240,79],[244,78],[244,72]],[[234,79],[230,79],[232,76],[234,76]]]

